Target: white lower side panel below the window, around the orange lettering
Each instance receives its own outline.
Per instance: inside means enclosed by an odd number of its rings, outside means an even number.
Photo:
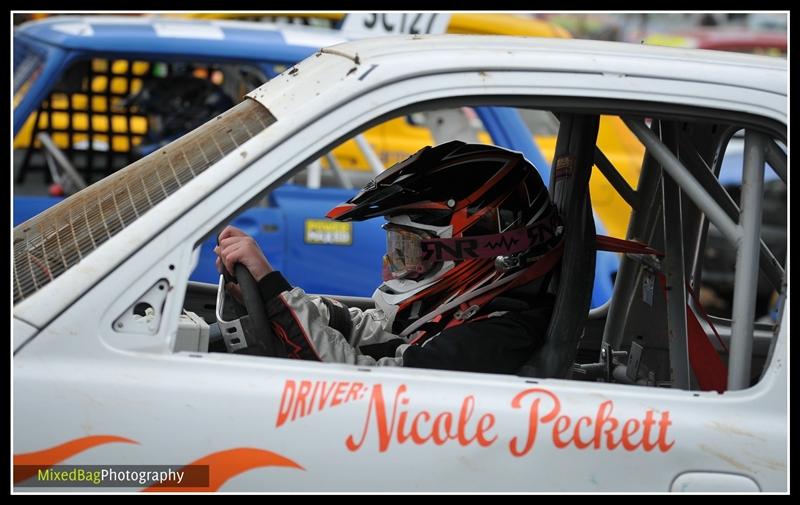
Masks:
[[[87,327],[69,342],[60,335],[42,335],[29,345],[26,351],[47,359],[49,372],[61,378],[55,384],[41,377],[38,368],[25,366],[25,360],[15,360],[15,453],[108,434],[138,445],[111,443],[68,462],[188,464],[212,453],[247,447],[277,453],[304,469],[257,468],[231,479],[222,490],[667,491],[678,475],[700,468],[749,476],[764,491],[786,489],[786,460],[781,458],[786,450],[786,369],[781,365],[773,366],[756,387],[720,397],[717,393],[357,369],[273,358],[123,353],[98,345],[96,337],[88,336],[101,331],[97,325]],[[81,356],[65,349],[85,345],[99,352]],[[776,355],[783,351],[777,349]],[[339,392],[328,389],[321,409],[318,389],[314,407],[309,409],[308,402],[300,407],[288,402],[289,381],[295,385],[294,398],[302,381],[319,382],[326,388],[346,384]],[[353,391],[353,384],[361,387]],[[377,386],[382,390],[383,408],[372,403]],[[515,408],[515,396],[525,391],[530,394]],[[309,396],[312,392],[309,389]],[[352,397],[351,393],[357,394]],[[556,420],[546,420],[554,408],[553,397],[560,402],[559,417],[570,419],[570,430],[560,437],[562,441],[571,438],[571,429],[580,423],[579,438],[590,443],[588,447],[576,447],[574,441],[564,447],[555,445]],[[532,421],[536,399],[541,407]],[[607,401],[611,403],[604,412],[610,414],[609,420],[601,424],[597,437],[597,416],[603,415],[598,412]],[[135,419],[130,418],[132,409]],[[308,414],[301,416],[304,409]],[[471,412],[461,415],[462,409]],[[648,437],[655,448],[645,450],[640,443],[643,425],[633,430],[635,421],[630,421],[629,443],[638,447],[609,448],[608,432],[612,444],[619,444],[624,423],[630,419],[641,423],[648,411],[656,423],[668,415],[670,424],[661,438],[663,447],[669,446],[666,451],[658,446],[658,424]],[[378,412],[386,416],[387,425],[393,416],[398,424],[406,416],[403,432],[408,435],[416,422],[426,440],[401,443],[397,428],[385,429],[388,442],[381,450]],[[431,420],[440,414],[452,418],[450,431],[456,436],[443,445],[430,438]],[[53,416],[60,420],[56,426],[50,422]],[[286,419],[276,426],[282,417]],[[619,423],[614,429],[611,418]],[[462,422],[464,428],[459,430]],[[526,452],[531,423],[537,424],[538,431]],[[464,440],[458,440],[459,431]],[[485,447],[479,442],[483,440],[479,432],[488,442]],[[362,445],[348,448],[349,438],[358,445],[362,437]],[[512,447],[524,454],[516,456]]]

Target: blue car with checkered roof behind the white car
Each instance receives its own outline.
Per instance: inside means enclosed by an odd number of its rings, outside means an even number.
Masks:
[[[56,17],[17,27],[14,225],[60,201],[65,189],[155,152],[320,47],[344,40],[327,29],[145,17]],[[485,140],[522,152],[549,181],[549,164],[516,109],[474,113]],[[341,178],[335,168],[325,173]],[[283,185],[231,224],[251,234],[293,284],[369,296],[380,283],[381,220],[330,223],[324,216],[371,175],[344,174],[357,182],[346,188],[339,179],[340,187],[318,187],[309,174],[306,184]],[[595,225],[604,234],[599,220]],[[214,245],[214,237],[203,244],[192,280],[217,282]],[[364,260],[354,264],[353,257]],[[593,307],[610,298],[616,270],[615,255],[598,253]]]

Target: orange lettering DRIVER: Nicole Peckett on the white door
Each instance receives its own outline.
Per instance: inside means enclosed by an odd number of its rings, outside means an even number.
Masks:
[[[355,432],[343,428],[345,446],[350,451],[367,447],[371,432],[377,434],[378,451],[386,452],[398,444],[489,447],[502,443],[495,427],[497,415],[481,411],[474,395],[465,396],[457,409],[438,411],[414,405],[405,384],[394,389],[382,384],[361,382],[287,380],[281,396],[276,428],[327,409],[350,404],[366,410],[364,422]],[[605,400],[584,415],[566,411],[559,396],[547,388],[527,388],[510,399],[510,411],[521,412],[517,433],[508,434],[508,451],[520,457],[533,452],[537,443],[550,443],[557,449],[660,451],[667,452],[675,441],[668,410],[656,413],[647,409],[640,416],[614,415],[614,402]],[[508,415],[508,411],[504,412]],[[505,435],[505,434],[504,434]]]

